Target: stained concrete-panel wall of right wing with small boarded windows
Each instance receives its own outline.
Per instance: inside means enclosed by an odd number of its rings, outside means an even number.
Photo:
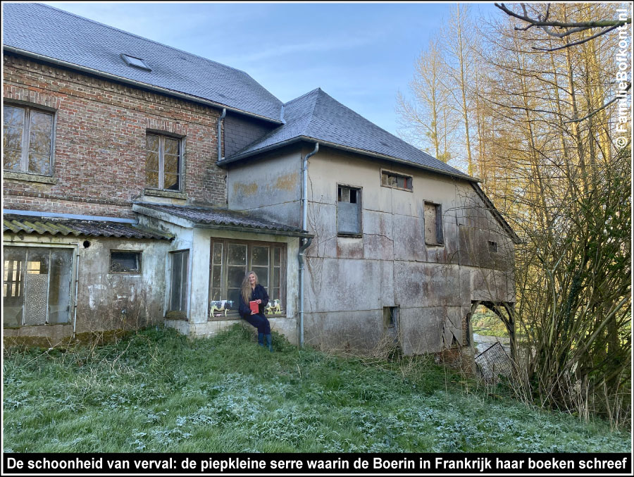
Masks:
[[[404,353],[441,352],[468,343],[472,300],[515,301],[513,243],[468,182],[325,147],[309,162],[306,342],[372,348],[399,306]],[[412,191],[383,187],[381,168]],[[363,237],[337,236],[337,184],[361,188]],[[425,201],[442,206],[442,246],[425,244]]]

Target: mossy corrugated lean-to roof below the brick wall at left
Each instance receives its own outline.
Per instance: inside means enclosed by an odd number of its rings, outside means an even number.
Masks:
[[[171,240],[173,235],[149,230],[136,224],[88,221],[78,218],[54,218],[41,216],[23,216],[6,213],[4,232],[37,233],[50,235],[80,235],[86,237],[120,237],[135,239]]]

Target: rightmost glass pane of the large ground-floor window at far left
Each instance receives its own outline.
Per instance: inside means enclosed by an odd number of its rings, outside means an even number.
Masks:
[[[51,250],[49,277],[49,323],[68,323],[70,316],[71,250]]]

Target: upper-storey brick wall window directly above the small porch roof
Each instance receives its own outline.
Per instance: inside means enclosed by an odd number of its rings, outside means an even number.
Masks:
[[[147,133],[145,185],[151,189],[180,191],[182,153],[177,137]]]

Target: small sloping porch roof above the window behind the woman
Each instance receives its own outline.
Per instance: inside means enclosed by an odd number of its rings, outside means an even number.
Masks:
[[[281,233],[282,235],[312,237],[301,228],[291,227],[282,223],[267,221],[241,211],[231,211],[216,207],[182,206],[171,204],[150,204],[148,202],[135,202],[132,209],[138,213],[144,213],[142,208],[151,209],[169,215],[185,218],[199,225],[214,225],[219,227],[237,227],[254,229],[259,233]]]

